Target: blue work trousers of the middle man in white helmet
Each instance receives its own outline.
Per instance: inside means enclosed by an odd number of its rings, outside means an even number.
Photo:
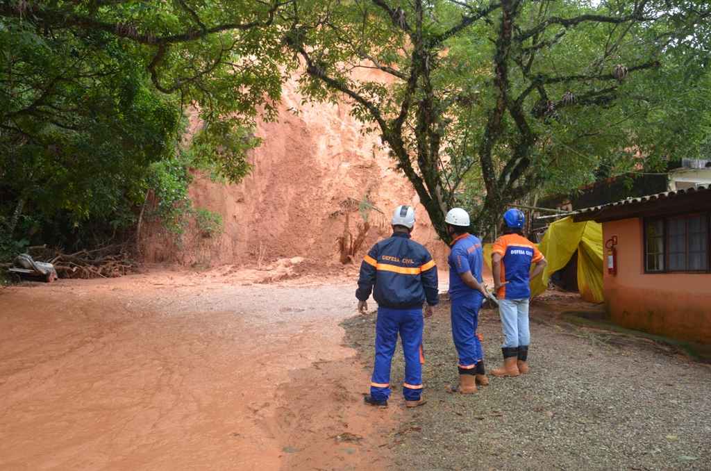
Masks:
[[[459,354],[461,369],[474,369],[484,358],[481,342],[476,337],[482,301],[481,295],[476,292],[451,300],[451,337]]]

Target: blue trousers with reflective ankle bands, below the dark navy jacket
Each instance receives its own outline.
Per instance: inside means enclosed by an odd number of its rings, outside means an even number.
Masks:
[[[390,309],[378,307],[375,325],[375,367],[370,383],[370,396],[375,401],[390,397],[390,364],[395,354],[397,334],[402,339],[405,354],[405,383],[402,395],[407,401],[418,401],[422,395],[422,364],[419,363],[419,346],[422,344],[422,307]]]

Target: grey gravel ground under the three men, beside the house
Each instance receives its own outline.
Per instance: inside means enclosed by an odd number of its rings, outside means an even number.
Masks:
[[[553,302],[555,304],[555,301]],[[711,470],[711,368],[674,347],[565,322],[531,308],[530,374],[471,396],[456,381],[449,302],[425,321],[424,397],[403,410],[390,448],[404,470]],[[347,342],[373,364],[375,313],[348,319]],[[487,371],[501,362],[498,313],[481,312]],[[391,383],[402,381],[400,344]],[[367,387],[364,385],[363,391]],[[401,406],[395,391],[391,407]]]

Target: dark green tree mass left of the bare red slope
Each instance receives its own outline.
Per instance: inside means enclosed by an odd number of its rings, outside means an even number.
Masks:
[[[4,246],[130,237],[147,192],[181,233],[189,169],[239,181],[257,108],[281,90],[275,9],[260,1],[0,3]],[[179,150],[183,109],[206,123]],[[13,214],[31,215],[32,224]],[[10,244],[10,245],[8,245]]]

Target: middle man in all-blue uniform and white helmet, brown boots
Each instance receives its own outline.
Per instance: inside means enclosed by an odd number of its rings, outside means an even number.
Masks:
[[[486,298],[481,272],[481,240],[469,233],[469,213],[452,208],[444,218],[452,238],[449,253],[449,299],[451,300],[451,335],[459,355],[459,384],[452,390],[476,393],[476,385],[487,386],[484,354],[476,334],[479,309]]]

